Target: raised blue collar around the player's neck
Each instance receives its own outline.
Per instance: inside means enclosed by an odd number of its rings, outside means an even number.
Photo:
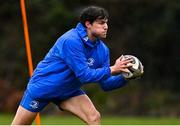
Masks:
[[[83,42],[85,44],[87,44],[88,46],[90,47],[95,47],[99,44],[100,40],[97,38],[96,42],[92,42],[88,36],[87,36],[87,31],[86,31],[86,28],[81,24],[81,23],[78,23],[77,26],[76,26],[76,30],[78,31],[80,37],[82,38]]]

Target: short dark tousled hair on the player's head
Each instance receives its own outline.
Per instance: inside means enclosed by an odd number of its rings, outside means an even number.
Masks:
[[[98,6],[89,6],[83,9],[82,13],[80,14],[80,22],[85,26],[85,22],[89,21],[91,24],[97,19],[108,19],[109,14],[108,12]]]

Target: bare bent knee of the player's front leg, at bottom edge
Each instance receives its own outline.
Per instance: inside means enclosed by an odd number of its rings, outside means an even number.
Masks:
[[[93,112],[93,113],[89,114],[89,116],[88,116],[89,124],[95,124],[97,122],[100,122],[100,120],[101,120],[101,115],[98,111]]]

